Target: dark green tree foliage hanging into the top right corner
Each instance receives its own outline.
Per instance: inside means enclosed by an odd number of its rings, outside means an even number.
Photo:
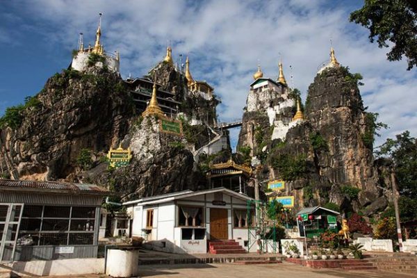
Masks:
[[[407,70],[417,66],[416,0],[365,0],[362,8],[350,14],[350,21],[368,28],[370,42],[376,38],[380,48],[393,44],[388,60],[401,60],[404,55]]]

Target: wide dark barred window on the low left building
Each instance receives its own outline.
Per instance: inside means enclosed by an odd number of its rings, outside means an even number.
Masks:
[[[26,205],[18,245],[92,245],[95,207]]]

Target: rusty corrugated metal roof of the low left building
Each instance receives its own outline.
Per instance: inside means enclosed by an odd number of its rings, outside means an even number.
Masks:
[[[87,193],[87,194],[101,194],[107,195],[111,193],[102,188],[90,183],[69,183],[63,181],[20,181],[10,179],[0,179],[0,187],[17,189],[40,189],[40,190],[66,190],[74,193]]]

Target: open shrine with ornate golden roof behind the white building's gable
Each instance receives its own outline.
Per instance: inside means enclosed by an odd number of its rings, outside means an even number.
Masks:
[[[251,174],[251,167],[240,165],[229,159],[226,163],[210,165],[207,179],[210,188],[224,187],[238,193],[253,195],[252,192],[248,192],[247,187]]]

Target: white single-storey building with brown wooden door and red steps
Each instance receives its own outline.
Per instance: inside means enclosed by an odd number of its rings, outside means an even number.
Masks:
[[[229,249],[247,252],[247,226],[254,221],[254,205],[248,210],[248,200],[253,199],[227,188],[214,188],[125,202],[133,218],[129,236],[145,238],[154,250],[164,252],[206,253],[210,240],[235,240],[236,248]],[[256,251],[256,246],[250,249]]]

